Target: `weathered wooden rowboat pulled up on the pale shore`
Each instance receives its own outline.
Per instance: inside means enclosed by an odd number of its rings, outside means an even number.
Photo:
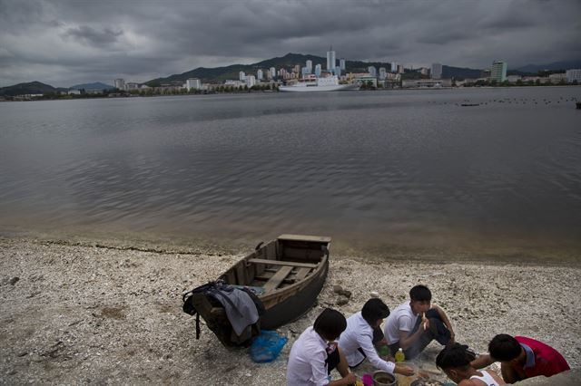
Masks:
[[[281,235],[256,246],[218,280],[256,294],[265,309],[261,329],[275,329],[298,319],[315,304],[329,271],[329,246],[327,236]],[[227,346],[246,343],[250,336],[224,336],[228,319],[223,308],[208,297],[194,294],[193,303],[221,342]]]

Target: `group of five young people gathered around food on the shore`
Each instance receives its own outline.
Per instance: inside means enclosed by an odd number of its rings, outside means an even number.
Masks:
[[[444,346],[436,365],[460,386],[504,385],[569,370],[563,356],[547,344],[507,334],[495,336],[488,353],[477,357],[468,346],[455,341],[448,315],[431,304],[431,298],[427,286],[416,285],[409,291],[409,302],[391,313],[379,298],[369,299],[360,312],[347,319],[337,310],[323,310],[292,345],[288,385],[351,385],[357,379],[350,370],[366,360],[378,370],[413,375],[411,367],[394,362],[392,355],[401,350],[406,359],[413,359],[433,340]],[[479,370],[493,362],[501,362],[502,379],[495,372]],[[341,378],[331,381],[334,369]]]

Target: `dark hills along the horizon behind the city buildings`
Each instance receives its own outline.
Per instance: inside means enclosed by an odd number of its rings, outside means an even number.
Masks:
[[[162,84],[182,84],[189,78],[198,78],[202,82],[224,82],[227,79],[238,79],[239,72],[251,72],[256,73],[256,71],[261,68],[262,70],[268,70],[271,67],[281,68],[281,67],[292,67],[296,64],[304,65],[308,60],[312,61],[313,68],[317,64],[320,64],[322,68],[326,68],[327,59],[321,56],[315,55],[305,55],[301,53],[287,53],[284,56],[268,59],[258,63],[252,64],[232,64],[226,67],[215,67],[215,68],[205,68],[199,67],[188,72],[182,72],[178,74],[173,74],[165,78],[156,78],[149,82],[145,82],[148,86],[155,87]],[[375,66],[377,69],[379,67],[390,68],[390,63],[383,62],[362,62],[362,61],[346,61],[346,72],[367,72],[369,66]],[[509,74],[520,74],[520,75],[533,75],[537,72],[542,71],[556,71],[556,70],[566,70],[571,68],[581,68],[581,60],[576,61],[566,61],[566,62],[555,62],[548,64],[527,64],[526,66],[519,67],[517,69],[511,69],[508,71]],[[482,70],[453,67],[448,65],[442,65],[442,77],[443,78],[456,78],[456,79],[466,79],[466,78],[479,78],[482,76]],[[113,86],[105,84],[102,82],[84,83],[76,84],[71,86],[70,89],[76,90],[109,90],[113,89]],[[42,82],[28,82],[28,83],[18,83],[13,86],[0,88],[0,95],[14,96],[21,94],[40,94],[48,92],[61,92],[68,91],[67,88],[55,88],[49,84],[44,84]]]

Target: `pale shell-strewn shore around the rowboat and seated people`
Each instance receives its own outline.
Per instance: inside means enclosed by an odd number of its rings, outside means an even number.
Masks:
[[[457,340],[486,351],[496,333],[522,334],[581,365],[581,265],[434,264],[335,256],[319,304],[279,333],[291,338],[271,363],[229,351],[182,313],[182,293],[238,256],[170,254],[0,239],[0,383],[283,385],[297,333],[321,307],[359,311],[370,291],[394,308],[428,285]],[[413,257],[413,256],[411,256]],[[347,304],[333,285],[351,291]],[[433,343],[432,343],[433,344]],[[428,354],[438,346],[428,347]]]

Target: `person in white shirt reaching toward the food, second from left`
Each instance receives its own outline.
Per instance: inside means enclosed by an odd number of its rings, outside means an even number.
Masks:
[[[339,346],[345,353],[350,367],[357,367],[367,358],[376,369],[389,373],[412,375],[414,370],[408,366],[379,358],[374,344],[384,339],[380,325],[388,317],[389,307],[381,299],[369,299],[359,313],[347,319],[347,329],[341,333]]]

